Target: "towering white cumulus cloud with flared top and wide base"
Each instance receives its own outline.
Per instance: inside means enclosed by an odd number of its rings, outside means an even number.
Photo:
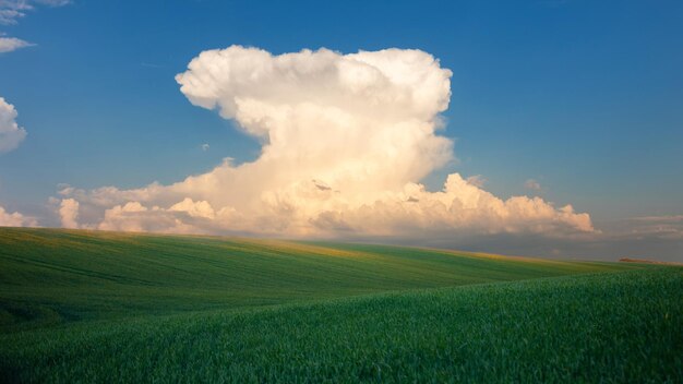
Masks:
[[[180,89],[257,137],[256,160],[226,159],[171,185],[60,193],[80,203],[81,226],[100,229],[291,237],[591,232],[587,214],[540,197],[504,201],[477,178],[453,173],[440,192],[419,183],[453,158],[453,143],[438,134],[450,77],[420,50],[204,51],[176,77]]]

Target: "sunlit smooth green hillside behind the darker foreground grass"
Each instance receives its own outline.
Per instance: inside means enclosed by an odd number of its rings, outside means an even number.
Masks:
[[[0,333],[632,267],[381,245],[0,228]]]

